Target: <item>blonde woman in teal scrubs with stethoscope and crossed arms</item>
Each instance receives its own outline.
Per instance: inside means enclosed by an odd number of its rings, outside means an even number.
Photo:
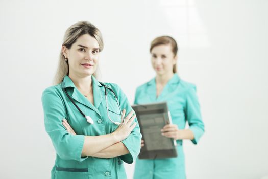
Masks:
[[[94,77],[102,50],[99,29],[87,21],[65,32],[57,85],[42,94],[45,130],[57,153],[53,179],[126,178],[123,161],[139,154],[140,129],[126,95]]]

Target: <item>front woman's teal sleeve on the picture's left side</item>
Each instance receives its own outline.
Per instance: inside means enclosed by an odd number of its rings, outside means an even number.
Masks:
[[[59,92],[47,88],[42,94],[45,130],[50,136],[53,146],[61,159],[83,161],[81,158],[85,136],[70,135],[62,125],[66,118],[66,109]]]

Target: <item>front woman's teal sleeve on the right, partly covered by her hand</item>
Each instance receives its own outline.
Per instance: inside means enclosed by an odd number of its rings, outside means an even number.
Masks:
[[[132,107],[126,97],[126,95],[123,93],[123,91],[117,86],[117,93],[118,93],[118,99],[119,104],[122,109],[126,109],[126,114],[129,114],[130,111],[132,111]],[[141,142],[141,133],[140,128],[138,124],[137,118],[135,118],[134,122],[137,123],[133,131],[130,133],[130,135],[121,141],[129,150],[129,154],[120,156],[121,160],[124,162],[131,164],[133,161],[137,158],[139,152],[140,152],[140,142]]]

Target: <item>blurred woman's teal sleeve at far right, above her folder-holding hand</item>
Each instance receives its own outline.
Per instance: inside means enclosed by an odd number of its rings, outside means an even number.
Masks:
[[[189,123],[189,129],[193,132],[193,144],[197,144],[203,133],[205,132],[204,123],[201,117],[200,105],[196,94],[196,86],[189,88],[186,95],[186,119]]]

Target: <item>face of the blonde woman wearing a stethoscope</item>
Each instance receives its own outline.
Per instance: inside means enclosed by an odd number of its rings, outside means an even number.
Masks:
[[[85,77],[92,75],[99,62],[100,46],[89,34],[81,35],[70,49],[62,46],[63,55],[69,64],[69,75]]]

